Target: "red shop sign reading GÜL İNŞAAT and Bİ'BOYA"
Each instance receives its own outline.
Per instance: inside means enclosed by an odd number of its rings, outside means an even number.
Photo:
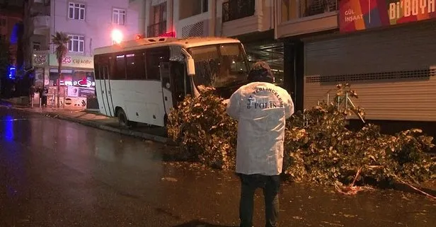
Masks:
[[[436,18],[436,0],[342,0],[340,32],[378,28]]]

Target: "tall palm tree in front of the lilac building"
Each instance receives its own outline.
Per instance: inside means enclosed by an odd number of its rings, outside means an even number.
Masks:
[[[69,42],[69,37],[66,33],[59,33],[56,32],[54,35],[52,35],[52,44],[56,47],[54,49],[54,53],[56,54],[57,59],[57,71],[59,73],[59,77],[57,79],[57,107],[59,107],[59,96],[60,96],[60,81],[61,81],[61,68],[62,68],[62,59],[64,59],[65,55],[68,53],[68,47],[67,44]]]

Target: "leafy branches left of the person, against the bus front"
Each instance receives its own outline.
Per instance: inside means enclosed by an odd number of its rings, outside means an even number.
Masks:
[[[172,110],[168,136],[182,146],[181,156],[191,161],[234,168],[237,122],[226,114],[226,106],[213,88],[200,87],[200,93],[197,98],[188,95],[177,110]]]

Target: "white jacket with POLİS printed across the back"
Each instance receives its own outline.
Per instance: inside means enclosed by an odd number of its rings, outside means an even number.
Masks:
[[[285,120],[294,114],[289,93],[272,83],[248,83],[231,95],[227,113],[239,122],[236,173],[282,173]]]

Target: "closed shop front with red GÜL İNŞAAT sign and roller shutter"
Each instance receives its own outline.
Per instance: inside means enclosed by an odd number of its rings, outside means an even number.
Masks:
[[[304,107],[346,82],[369,120],[436,121],[435,4],[340,1],[340,33],[302,40]]]

